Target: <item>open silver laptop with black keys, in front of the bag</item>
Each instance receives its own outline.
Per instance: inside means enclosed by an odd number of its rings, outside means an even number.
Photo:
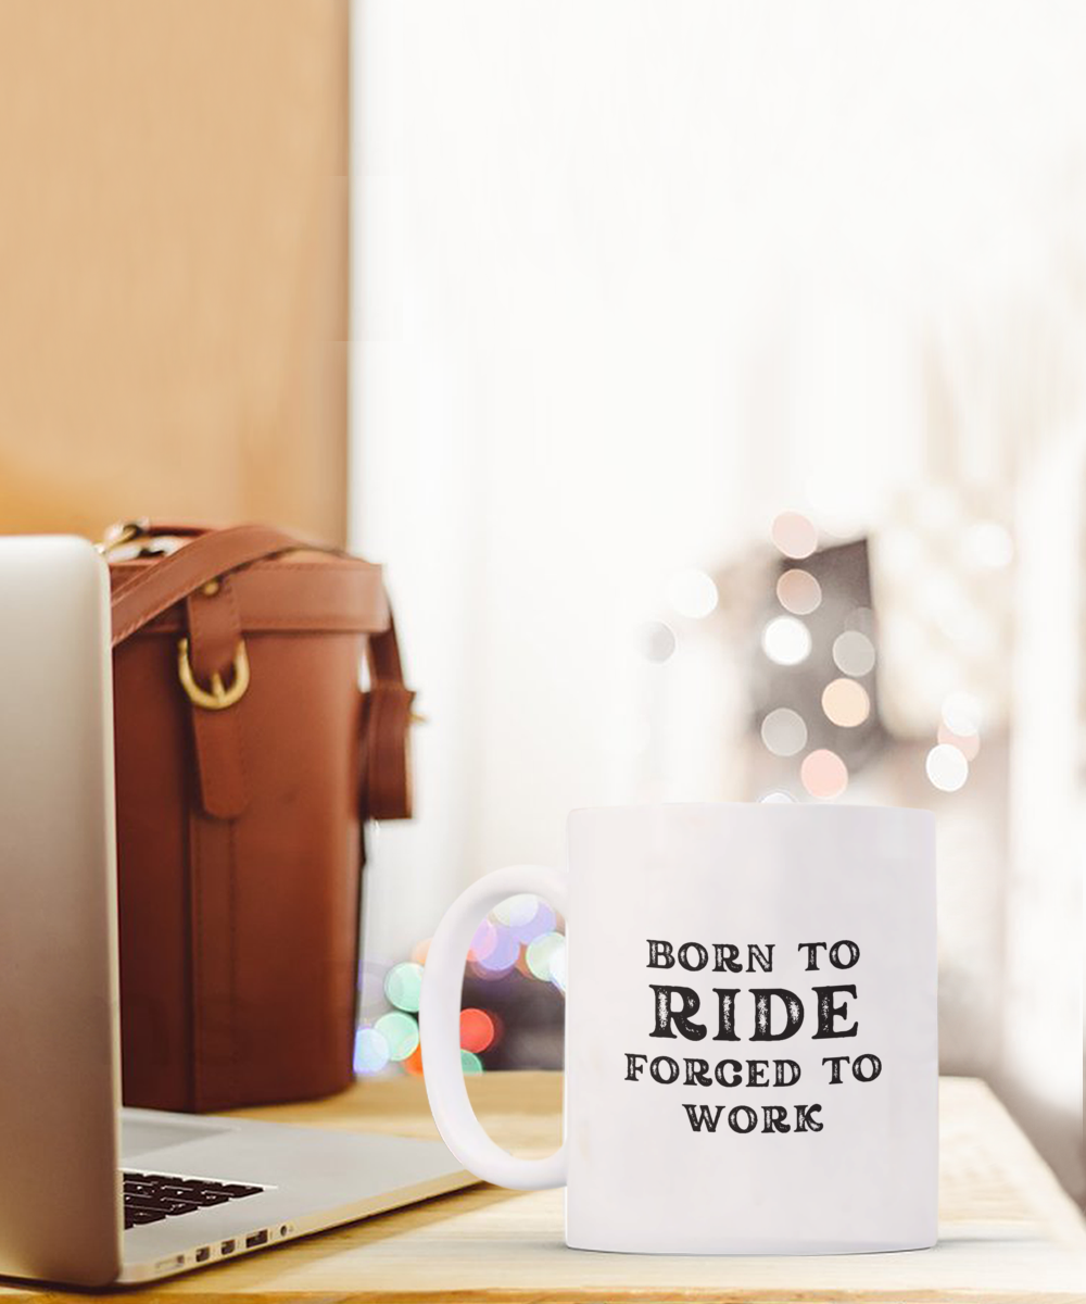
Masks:
[[[437,1141],[120,1108],[106,566],[0,539],[0,1273],[236,1258],[475,1179]]]

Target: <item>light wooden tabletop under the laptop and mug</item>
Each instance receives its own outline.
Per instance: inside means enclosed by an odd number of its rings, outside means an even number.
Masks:
[[[508,1149],[557,1144],[559,1073],[471,1078],[476,1110]],[[326,1128],[434,1136],[416,1078],[362,1082],[330,1101],[245,1111]],[[941,1084],[940,1243],[898,1254],[684,1258],[570,1251],[562,1192],[477,1185],[139,1291],[184,1297],[345,1300],[1086,1301],[1086,1222],[982,1082]],[[0,1288],[8,1300],[86,1295]]]

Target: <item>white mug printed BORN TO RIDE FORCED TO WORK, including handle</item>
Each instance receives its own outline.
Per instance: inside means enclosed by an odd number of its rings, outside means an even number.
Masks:
[[[568,875],[497,870],[426,957],[426,1090],[503,1187],[566,1187],[578,1249],[820,1254],[936,1239],[935,836],[927,811],[578,810]],[[518,1159],[460,1068],[472,935],[520,892],[566,917],[562,1148]]]

